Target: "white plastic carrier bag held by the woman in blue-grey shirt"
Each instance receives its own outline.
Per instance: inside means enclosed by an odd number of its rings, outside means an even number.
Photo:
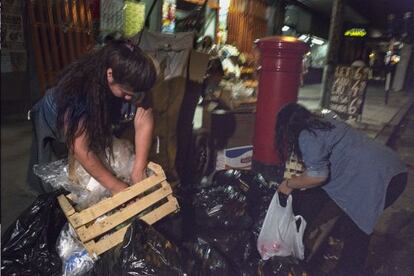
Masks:
[[[296,226],[298,220],[300,220],[299,229]],[[257,250],[262,259],[292,255],[303,260],[305,247],[302,239],[305,227],[306,221],[303,217],[293,215],[292,196],[289,195],[286,207],[283,207],[279,203],[279,194],[276,192],[257,239]]]

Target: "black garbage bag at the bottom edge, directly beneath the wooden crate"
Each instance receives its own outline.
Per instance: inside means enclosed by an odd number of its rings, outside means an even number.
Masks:
[[[177,246],[145,222],[135,219],[121,245],[95,263],[89,275],[183,275]]]

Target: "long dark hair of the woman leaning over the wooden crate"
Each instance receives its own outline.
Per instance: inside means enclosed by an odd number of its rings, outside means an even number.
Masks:
[[[70,64],[56,84],[57,124],[69,149],[86,133],[89,149],[105,153],[112,146],[111,101],[106,71],[114,82],[135,92],[149,90],[156,80],[152,60],[137,46],[113,40],[101,49]]]

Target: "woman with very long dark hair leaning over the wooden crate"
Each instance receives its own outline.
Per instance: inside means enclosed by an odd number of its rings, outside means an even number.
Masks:
[[[121,119],[123,101],[137,107],[131,179],[133,183],[142,180],[153,129],[151,108],[142,100],[155,80],[151,58],[122,40],[112,40],[70,64],[31,110],[34,140],[29,183],[40,192],[51,190],[33,175],[32,167],[61,157],[57,149],[64,143],[89,174],[113,194],[126,188],[128,185],[104,162],[108,149],[111,154],[113,128]]]

